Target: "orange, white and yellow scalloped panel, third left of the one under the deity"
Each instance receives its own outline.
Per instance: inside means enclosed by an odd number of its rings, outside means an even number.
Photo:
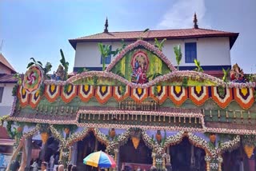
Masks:
[[[94,96],[94,86],[93,85],[78,85],[78,97],[84,102],[90,100]]]

